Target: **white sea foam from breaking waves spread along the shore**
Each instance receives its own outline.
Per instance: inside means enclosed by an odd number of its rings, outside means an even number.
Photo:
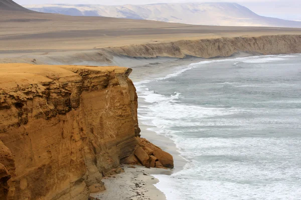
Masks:
[[[156,186],[166,194],[168,200],[288,199],[288,196],[289,199],[301,199],[301,185],[282,181],[287,177],[291,178],[291,181],[295,181],[297,177],[300,177],[300,168],[282,170],[290,165],[292,167],[298,165],[297,162],[301,153],[293,151],[287,146],[299,146],[299,140],[293,137],[279,140],[276,134],[275,138],[248,137],[243,132],[245,129],[248,129],[248,131],[260,130],[260,124],[265,124],[267,128],[270,127],[271,129],[284,127],[287,134],[289,134],[290,129],[301,129],[299,118],[293,120],[291,118],[269,117],[269,115],[283,114],[284,112],[288,116],[296,112],[301,113],[300,108],[282,110],[277,108],[204,107],[183,103],[181,99],[185,96],[178,91],[174,91],[171,95],[163,95],[150,90],[146,86],[149,82],[176,77],[187,70],[213,62],[265,63],[281,61],[290,56],[294,55],[206,60],[189,66],[177,67],[172,73],[164,77],[135,83],[139,97],[144,98],[149,103],[139,106],[139,120],[149,125],[148,129],[173,139],[180,149],[181,155],[188,160],[183,170],[171,176],[154,175],[160,180]],[[256,86],[227,81],[203,84]],[[299,103],[299,100],[291,100],[291,102],[296,104]],[[285,101],[274,100],[270,103],[285,103]],[[231,120],[232,116],[243,113],[248,113],[249,118],[233,117],[233,120]],[[261,115],[260,118],[252,117],[258,114]],[[224,138],[231,134],[234,126],[236,126],[235,130],[238,131],[235,137],[232,139]],[[241,126],[241,128],[237,126]],[[219,128],[223,131],[220,131],[219,135],[215,133],[215,136],[211,137],[212,128],[210,127]],[[185,136],[186,131],[190,132],[190,137]],[[193,132],[207,134],[208,136],[193,137]],[[266,148],[266,146],[270,146],[270,148]],[[277,158],[278,156],[285,157],[287,154],[293,155],[297,159],[274,161],[275,156]],[[261,157],[261,159],[240,161],[252,156]],[[196,159],[196,157],[199,159]],[[202,159],[202,157],[204,158]],[[221,158],[222,160],[227,158],[227,160],[220,161]],[[263,162],[260,164],[263,164],[265,168],[260,168],[257,162]],[[279,179],[278,182],[276,181],[277,178]],[[258,183],[250,184],[246,179],[253,182],[258,181]],[[269,183],[269,180],[272,183]],[[258,186],[261,185],[261,182],[267,182],[267,185]]]

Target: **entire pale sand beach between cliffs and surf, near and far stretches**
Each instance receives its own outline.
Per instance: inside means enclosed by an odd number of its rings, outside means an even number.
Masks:
[[[154,66],[154,64],[144,64],[141,66],[133,67],[133,72],[130,78],[133,82],[138,82],[145,79],[152,79],[155,77],[162,77],[171,71],[174,67],[189,64],[192,62],[198,62],[202,59],[200,58],[188,58],[181,60],[167,60],[158,59],[156,61],[156,67],[149,67],[149,65]],[[144,106],[149,104],[145,102],[143,98],[139,97],[138,92],[138,105]],[[183,169],[186,164],[186,160],[180,156],[178,148],[174,141],[163,135],[158,135],[154,131],[148,130],[152,126],[148,126],[142,123],[143,121],[139,119],[139,127],[141,129],[141,137],[146,138],[155,145],[160,146],[163,150],[171,153],[174,157],[175,167],[174,169],[159,169],[159,168],[146,168],[144,166],[134,166],[132,168],[130,165],[123,165],[124,172],[116,174],[111,177],[103,178],[102,181],[105,183],[106,190],[99,193],[93,193],[91,196],[99,199],[107,200],[123,200],[123,199],[133,199],[133,200],[165,200],[165,194],[160,191],[155,185],[159,182],[157,178],[152,176],[152,174],[167,174]]]

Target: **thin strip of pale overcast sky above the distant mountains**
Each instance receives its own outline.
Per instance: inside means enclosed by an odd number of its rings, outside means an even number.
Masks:
[[[15,0],[24,4],[69,3],[69,4],[149,4],[185,2],[237,2],[263,16],[301,20],[301,0]]]

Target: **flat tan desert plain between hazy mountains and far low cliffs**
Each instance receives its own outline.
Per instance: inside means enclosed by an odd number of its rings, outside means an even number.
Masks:
[[[89,57],[106,62],[113,59],[110,47],[131,45],[130,48],[133,48],[133,45],[152,44],[162,48],[167,43],[173,45],[173,42],[183,40],[301,34],[300,28],[202,26],[110,17],[66,16],[39,13],[25,8],[22,10],[14,6],[2,8],[1,12],[0,62],[19,60],[34,63],[31,60],[36,59],[37,63],[62,63],[62,56],[66,63],[71,63],[68,60],[84,60]],[[189,55],[184,52],[181,57],[183,54]],[[149,57],[148,54],[136,56]],[[166,53],[166,56],[169,54]],[[196,56],[202,57],[202,54]],[[7,60],[8,58],[12,59]]]

